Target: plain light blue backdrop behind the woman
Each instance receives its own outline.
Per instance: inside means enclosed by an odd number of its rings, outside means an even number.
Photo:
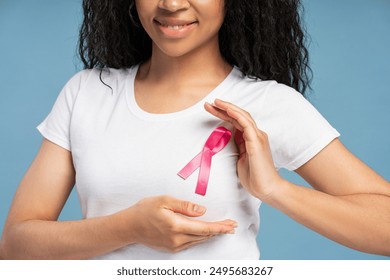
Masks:
[[[303,2],[314,71],[309,100],[353,153],[389,179],[390,1]],[[0,231],[40,146],[35,127],[81,70],[80,22],[81,0],[0,0]],[[327,240],[267,205],[261,213],[263,259],[388,259]],[[81,218],[75,192],[60,218]]]

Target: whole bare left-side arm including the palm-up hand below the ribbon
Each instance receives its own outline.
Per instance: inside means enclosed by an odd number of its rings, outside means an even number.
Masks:
[[[71,153],[44,140],[12,203],[0,244],[3,258],[83,259],[133,243],[177,252],[236,226],[230,220],[192,221],[183,215],[206,210],[164,196],[109,216],[58,222],[74,178]]]

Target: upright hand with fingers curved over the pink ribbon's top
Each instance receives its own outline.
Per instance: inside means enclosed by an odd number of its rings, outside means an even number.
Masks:
[[[205,109],[234,126],[241,184],[255,197],[266,200],[284,182],[275,169],[267,134],[257,128],[248,112],[234,104],[216,99],[214,104],[206,103]]]

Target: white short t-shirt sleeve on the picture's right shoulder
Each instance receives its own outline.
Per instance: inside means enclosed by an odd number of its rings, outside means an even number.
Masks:
[[[277,168],[295,170],[313,158],[339,132],[302,94],[283,84],[268,88],[262,121]]]

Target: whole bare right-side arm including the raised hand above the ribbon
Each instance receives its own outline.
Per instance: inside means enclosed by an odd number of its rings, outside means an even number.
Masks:
[[[390,255],[390,184],[334,140],[297,170],[315,190],[287,182],[273,167],[267,135],[233,104],[208,112],[231,122],[243,186],[299,223],[345,246]]]

